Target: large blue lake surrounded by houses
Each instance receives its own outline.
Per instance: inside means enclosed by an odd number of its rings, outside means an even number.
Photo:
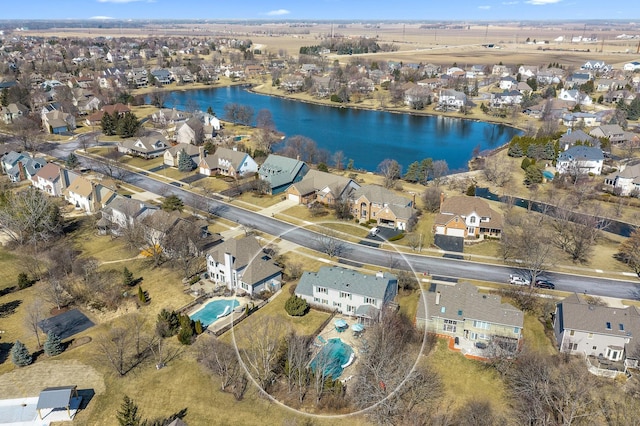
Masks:
[[[268,109],[277,130],[287,137],[306,136],[319,148],[344,152],[345,165],[353,159],[355,168],[369,171],[386,158],[406,170],[412,162],[429,157],[446,160],[451,171],[466,170],[475,147],[497,148],[521,133],[501,124],[459,118],[314,105],[259,95],[240,86],[172,92],[165,106],[185,109],[194,103],[203,111],[213,108],[220,118],[229,103],[249,105],[256,114]]]

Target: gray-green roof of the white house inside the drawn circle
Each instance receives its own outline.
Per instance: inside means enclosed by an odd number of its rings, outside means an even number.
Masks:
[[[323,266],[318,272],[302,274],[296,293],[313,297],[313,287],[322,286],[384,300],[388,286],[397,283],[396,276],[387,272],[365,275],[351,269]]]

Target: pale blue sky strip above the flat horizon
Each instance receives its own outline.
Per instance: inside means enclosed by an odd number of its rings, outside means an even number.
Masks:
[[[637,0],[0,0],[2,19],[640,21]]]

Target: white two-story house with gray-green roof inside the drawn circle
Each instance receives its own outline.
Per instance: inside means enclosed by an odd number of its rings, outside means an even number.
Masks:
[[[368,275],[352,269],[323,266],[318,272],[303,273],[295,294],[311,306],[364,320],[377,320],[382,309],[398,294],[398,278],[388,272]]]

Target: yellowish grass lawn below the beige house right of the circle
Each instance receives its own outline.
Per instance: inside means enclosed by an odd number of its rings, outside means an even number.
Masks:
[[[426,359],[442,378],[444,401],[450,401],[453,409],[471,401],[488,401],[496,412],[506,414],[507,395],[497,372],[480,361],[450,351],[447,343],[439,339],[436,349]]]

